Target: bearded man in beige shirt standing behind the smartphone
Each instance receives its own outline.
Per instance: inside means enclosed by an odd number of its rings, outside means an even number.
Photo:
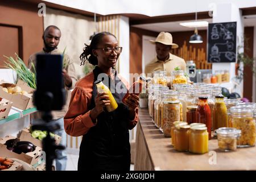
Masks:
[[[59,45],[61,37],[60,29],[56,26],[48,26],[43,34],[43,41],[44,41],[44,47],[43,50],[40,52],[36,52],[33,55],[30,56],[28,60],[28,68],[31,69],[31,71],[34,71],[32,69],[32,63],[36,67],[36,54],[38,53],[48,53],[48,54],[63,54],[63,52],[59,51],[57,49],[57,46]],[[71,98],[71,89],[75,87],[77,78],[75,74],[75,67],[72,62],[72,60],[69,58],[67,54],[64,55],[63,58],[63,78],[64,78],[64,86],[65,90],[67,91],[66,96],[66,104],[63,106],[63,109],[60,111],[52,111],[52,119],[53,121],[59,123],[60,129],[55,131],[55,134],[59,135],[61,137],[60,144],[63,146],[67,146],[67,134],[64,131],[64,115],[67,113],[69,100]],[[32,119],[39,119],[41,118],[40,113],[32,114]],[[67,151],[66,150],[56,150],[56,170],[57,171],[65,171],[67,166]]]

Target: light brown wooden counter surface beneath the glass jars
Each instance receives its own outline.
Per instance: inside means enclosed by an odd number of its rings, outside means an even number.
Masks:
[[[256,147],[234,152],[218,150],[217,139],[209,140],[209,152],[178,152],[171,138],[151,121],[147,109],[139,109],[134,170],[256,170]]]

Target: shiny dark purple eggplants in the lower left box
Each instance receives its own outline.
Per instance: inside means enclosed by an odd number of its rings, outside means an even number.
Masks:
[[[8,150],[13,151],[16,154],[26,154],[27,152],[34,151],[36,148],[33,143],[28,141],[19,141],[18,138],[7,140],[5,145]]]

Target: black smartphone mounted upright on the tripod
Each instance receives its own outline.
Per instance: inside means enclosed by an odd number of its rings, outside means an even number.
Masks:
[[[63,56],[36,55],[36,91],[34,105],[37,110],[61,110],[65,104]]]

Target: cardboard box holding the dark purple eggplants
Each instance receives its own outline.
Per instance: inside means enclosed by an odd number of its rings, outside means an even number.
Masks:
[[[42,148],[36,146],[35,150],[32,152],[27,152],[26,154],[16,154],[15,152],[12,152],[7,149],[7,146],[5,145],[5,142],[9,139],[15,139],[16,137],[13,136],[6,136],[4,138],[0,138],[0,154],[1,156],[5,156],[6,158],[15,158],[22,160],[28,164],[31,164],[32,166],[36,163],[38,163],[38,159],[42,155]]]

